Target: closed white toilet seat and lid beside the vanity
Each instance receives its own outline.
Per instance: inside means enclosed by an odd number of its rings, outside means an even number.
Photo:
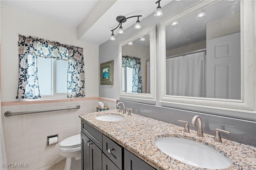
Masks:
[[[76,134],[74,136],[70,136],[60,142],[60,148],[78,148],[81,146],[81,136],[80,134]]]

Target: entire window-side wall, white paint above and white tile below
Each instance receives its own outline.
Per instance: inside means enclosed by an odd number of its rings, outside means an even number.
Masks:
[[[18,34],[84,48],[85,99],[23,102],[16,99],[18,88]],[[58,146],[64,138],[80,133],[78,115],[96,111],[99,88],[99,46],[78,41],[76,28],[1,6],[2,79],[1,102],[4,140],[8,163],[28,163],[28,169],[47,169],[64,159]],[[111,103],[111,102],[110,102]],[[6,111],[34,111],[67,106],[81,108],[5,117]],[[59,143],[47,146],[46,136],[58,134]],[[16,168],[9,168],[16,169]],[[26,168],[22,168],[26,169]]]

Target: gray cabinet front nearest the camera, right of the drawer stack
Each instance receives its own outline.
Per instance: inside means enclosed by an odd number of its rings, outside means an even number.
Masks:
[[[128,150],[124,149],[124,170],[156,170]]]

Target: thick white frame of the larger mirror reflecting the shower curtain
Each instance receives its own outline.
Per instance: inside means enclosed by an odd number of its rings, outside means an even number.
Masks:
[[[256,1],[240,1],[241,100],[166,95],[165,26],[217,2],[197,2],[159,23],[160,104],[164,107],[256,121]]]

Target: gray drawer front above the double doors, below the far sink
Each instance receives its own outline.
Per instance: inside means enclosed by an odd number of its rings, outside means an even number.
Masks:
[[[102,150],[102,133],[84,121],[81,126],[82,132]]]

